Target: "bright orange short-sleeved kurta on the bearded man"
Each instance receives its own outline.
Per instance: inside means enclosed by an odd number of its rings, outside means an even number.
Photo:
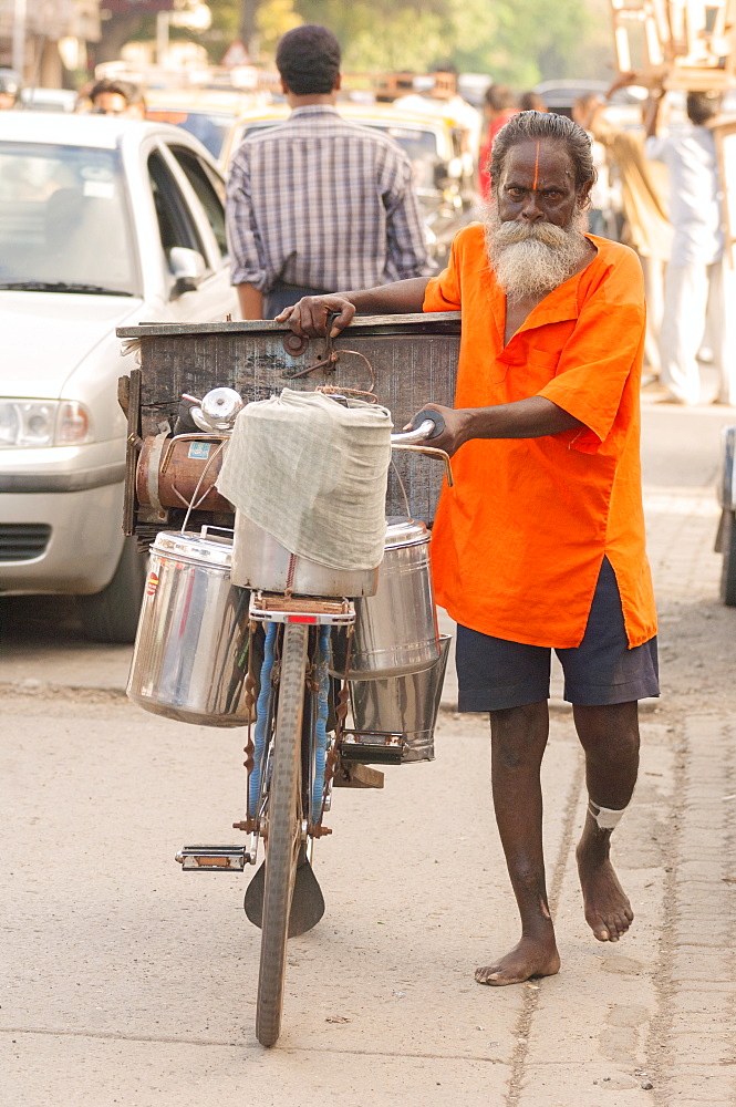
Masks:
[[[542,438],[467,442],[433,529],[437,602],[459,623],[530,645],[580,645],[603,557],[629,645],[656,633],[642,509],[639,389],[644,290],[635,254],[597,257],[504,344],[506,297],[480,225],[457,235],[425,311],[462,310],[456,407],[545,396],[584,424]]]

